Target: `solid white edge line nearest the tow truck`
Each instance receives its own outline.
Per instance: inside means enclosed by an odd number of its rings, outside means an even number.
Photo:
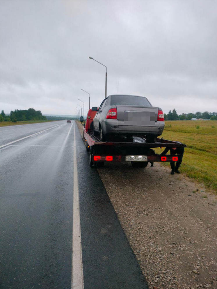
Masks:
[[[81,249],[81,226],[79,209],[78,172],[74,126],[74,186],[73,186],[73,229],[72,229],[72,289],[83,289],[83,265]]]

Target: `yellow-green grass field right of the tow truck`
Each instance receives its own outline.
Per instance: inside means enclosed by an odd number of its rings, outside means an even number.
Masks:
[[[161,137],[187,145],[180,171],[217,194],[217,121],[165,121]]]

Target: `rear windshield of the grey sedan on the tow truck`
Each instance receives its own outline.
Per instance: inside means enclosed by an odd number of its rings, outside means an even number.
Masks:
[[[151,106],[147,98],[142,97],[142,96],[132,96],[132,95],[112,95],[111,105]]]

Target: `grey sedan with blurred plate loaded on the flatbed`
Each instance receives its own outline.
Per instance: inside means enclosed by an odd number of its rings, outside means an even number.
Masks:
[[[159,107],[152,106],[146,97],[137,95],[109,95],[100,104],[93,119],[93,134],[100,140],[112,136],[145,136],[155,142],[164,129],[164,115]]]

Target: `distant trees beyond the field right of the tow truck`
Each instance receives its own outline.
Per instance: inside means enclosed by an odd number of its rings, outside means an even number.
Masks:
[[[164,120],[191,120],[192,118],[203,119],[203,120],[217,120],[217,112],[204,111],[203,113],[197,111],[195,113],[182,113],[177,114],[176,110],[169,111],[168,114],[164,113]]]

